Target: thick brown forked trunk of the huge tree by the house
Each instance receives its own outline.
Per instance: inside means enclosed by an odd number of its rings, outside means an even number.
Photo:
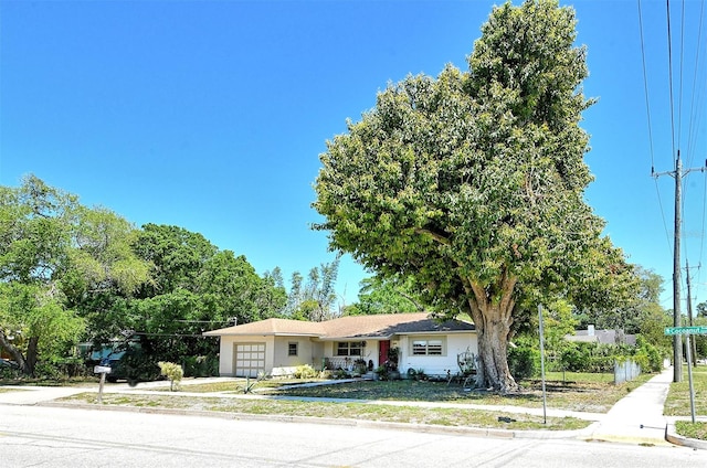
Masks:
[[[500,393],[518,391],[518,384],[508,368],[508,337],[513,323],[516,278],[504,275],[490,294],[473,280],[466,280],[471,316],[478,338],[478,369],[476,386]]]

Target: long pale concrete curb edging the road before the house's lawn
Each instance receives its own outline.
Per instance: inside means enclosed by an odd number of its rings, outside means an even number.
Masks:
[[[163,415],[182,415],[182,416],[202,416],[202,417],[215,417],[221,419],[234,419],[234,421],[270,421],[281,423],[304,423],[304,424],[324,424],[336,426],[350,426],[350,427],[363,427],[373,429],[394,429],[394,430],[409,430],[416,433],[428,434],[446,434],[446,435],[460,435],[460,436],[476,436],[476,437],[494,437],[494,438],[524,438],[524,439],[569,439],[582,437],[585,434],[591,434],[593,427],[598,423],[592,423],[588,427],[577,430],[514,430],[514,429],[498,429],[487,427],[464,427],[464,426],[441,426],[434,424],[414,424],[414,423],[394,423],[384,421],[365,421],[365,419],[335,419],[330,417],[313,417],[313,416],[285,416],[285,415],[270,415],[270,414],[249,414],[249,413],[224,413],[212,411],[184,411],[184,410],[169,410],[157,407],[137,407],[137,406],[98,406],[91,404],[75,404],[75,403],[60,403],[60,402],[41,402],[36,406],[49,407],[63,407],[63,408],[81,408],[81,410],[94,410],[94,411],[117,411],[128,413],[145,413],[145,414],[163,414]]]

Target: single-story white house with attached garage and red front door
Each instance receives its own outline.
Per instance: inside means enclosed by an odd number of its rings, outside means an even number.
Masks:
[[[439,322],[426,312],[350,316],[323,322],[267,319],[220,330],[219,373],[230,376],[292,374],[298,365],[351,370],[362,359],[373,369],[398,349],[398,369],[428,375],[458,372],[457,357],[477,354],[476,328],[461,320]]]

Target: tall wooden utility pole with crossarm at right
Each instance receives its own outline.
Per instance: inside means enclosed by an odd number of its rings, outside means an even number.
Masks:
[[[707,166],[707,161],[705,161]],[[652,176],[658,178],[661,176],[671,176],[675,178],[675,236],[673,241],[673,327],[679,327],[680,317],[680,224],[682,204],[683,204],[683,177],[694,171],[705,171],[705,166],[696,169],[686,169],[683,171],[683,161],[680,160],[680,150],[677,150],[675,159],[675,170],[671,172],[655,172],[652,169]],[[683,340],[679,336],[673,337],[673,382],[683,381]]]

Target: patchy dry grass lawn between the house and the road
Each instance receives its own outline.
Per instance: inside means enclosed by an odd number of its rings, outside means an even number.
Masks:
[[[627,392],[648,380],[643,375],[637,382],[613,385],[608,374],[549,375],[547,382],[548,407],[603,413]],[[260,395],[285,395],[360,400],[361,402],[330,403],[282,400],[246,400],[223,397],[219,393],[244,393],[245,380],[229,380],[215,383],[182,385],[182,392],[203,393],[203,396],[149,394],[104,394],[104,404],[137,407],[165,407],[193,411],[217,411],[243,414],[274,414],[284,416],[331,417],[399,423],[437,424],[445,426],[489,427],[511,429],[569,430],[583,428],[587,421],[576,418],[548,418],[541,416],[509,414],[494,411],[460,408],[418,407],[413,405],[390,406],[371,404],[370,401],[451,402],[496,406],[541,407],[540,381],[521,383],[523,390],[515,395],[497,395],[492,392],[465,392],[460,384],[446,382],[394,381],[337,383],[313,387],[287,387],[305,381],[267,380],[257,382],[252,389]],[[250,381],[253,383],[253,381]],[[169,385],[151,390],[169,390]],[[65,402],[97,404],[95,393],[84,393],[64,398]],[[510,422],[499,421],[500,416]]]

